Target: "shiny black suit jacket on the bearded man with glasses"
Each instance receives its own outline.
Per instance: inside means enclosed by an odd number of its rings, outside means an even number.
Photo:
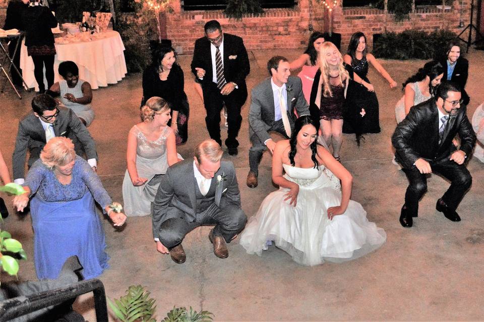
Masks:
[[[455,117],[449,118],[441,144],[439,144],[439,111],[432,98],[410,109],[406,118],[397,125],[392,136],[396,149],[395,158],[406,169],[415,167],[418,158],[437,162],[450,157],[455,150],[452,143],[456,134],[461,139],[460,149],[470,155],[475,143],[475,133],[463,105]]]

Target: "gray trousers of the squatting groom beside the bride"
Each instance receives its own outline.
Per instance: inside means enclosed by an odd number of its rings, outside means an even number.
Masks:
[[[184,218],[183,211],[177,208],[171,208],[170,213],[178,212],[174,218],[169,218],[161,223],[158,238],[168,249],[179,245],[185,235],[201,225],[213,225],[213,234],[224,237],[227,243],[230,243],[233,236],[244,229],[247,216],[238,206],[226,204],[223,208],[217,205],[210,205],[204,212],[197,213],[197,219],[194,222],[188,222]]]

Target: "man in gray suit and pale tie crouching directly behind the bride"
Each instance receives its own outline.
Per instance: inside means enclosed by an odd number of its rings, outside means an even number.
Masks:
[[[252,90],[249,111],[251,170],[247,176],[247,185],[250,188],[257,187],[262,153],[266,148],[271,153],[274,151],[276,142],[271,139],[269,132],[276,131],[289,138],[296,119],[294,112],[297,112],[297,116],[309,115],[308,102],[302,94],[301,79],[291,76],[288,60],[282,56],[274,56],[267,62],[267,70],[271,77]]]

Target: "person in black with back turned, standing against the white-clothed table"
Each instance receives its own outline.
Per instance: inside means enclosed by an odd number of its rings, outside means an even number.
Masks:
[[[31,0],[29,7],[22,14],[22,22],[25,27],[25,46],[27,53],[34,61],[35,81],[39,86],[39,92],[45,92],[44,65],[47,88],[54,84],[54,58],[55,46],[54,35],[51,28],[57,27],[57,19],[47,7],[42,7],[40,2]]]

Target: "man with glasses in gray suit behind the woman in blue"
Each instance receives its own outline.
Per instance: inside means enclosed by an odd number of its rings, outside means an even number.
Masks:
[[[94,171],[96,170],[96,144],[79,117],[71,109],[58,107],[51,96],[40,94],[32,99],[32,112],[19,123],[12,162],[15,183],[24,183],[27,150],[30,154],[30,168],[39,158],[45,143],[55,136],[71,138],[76,153],[86,153],[87,162]]]

